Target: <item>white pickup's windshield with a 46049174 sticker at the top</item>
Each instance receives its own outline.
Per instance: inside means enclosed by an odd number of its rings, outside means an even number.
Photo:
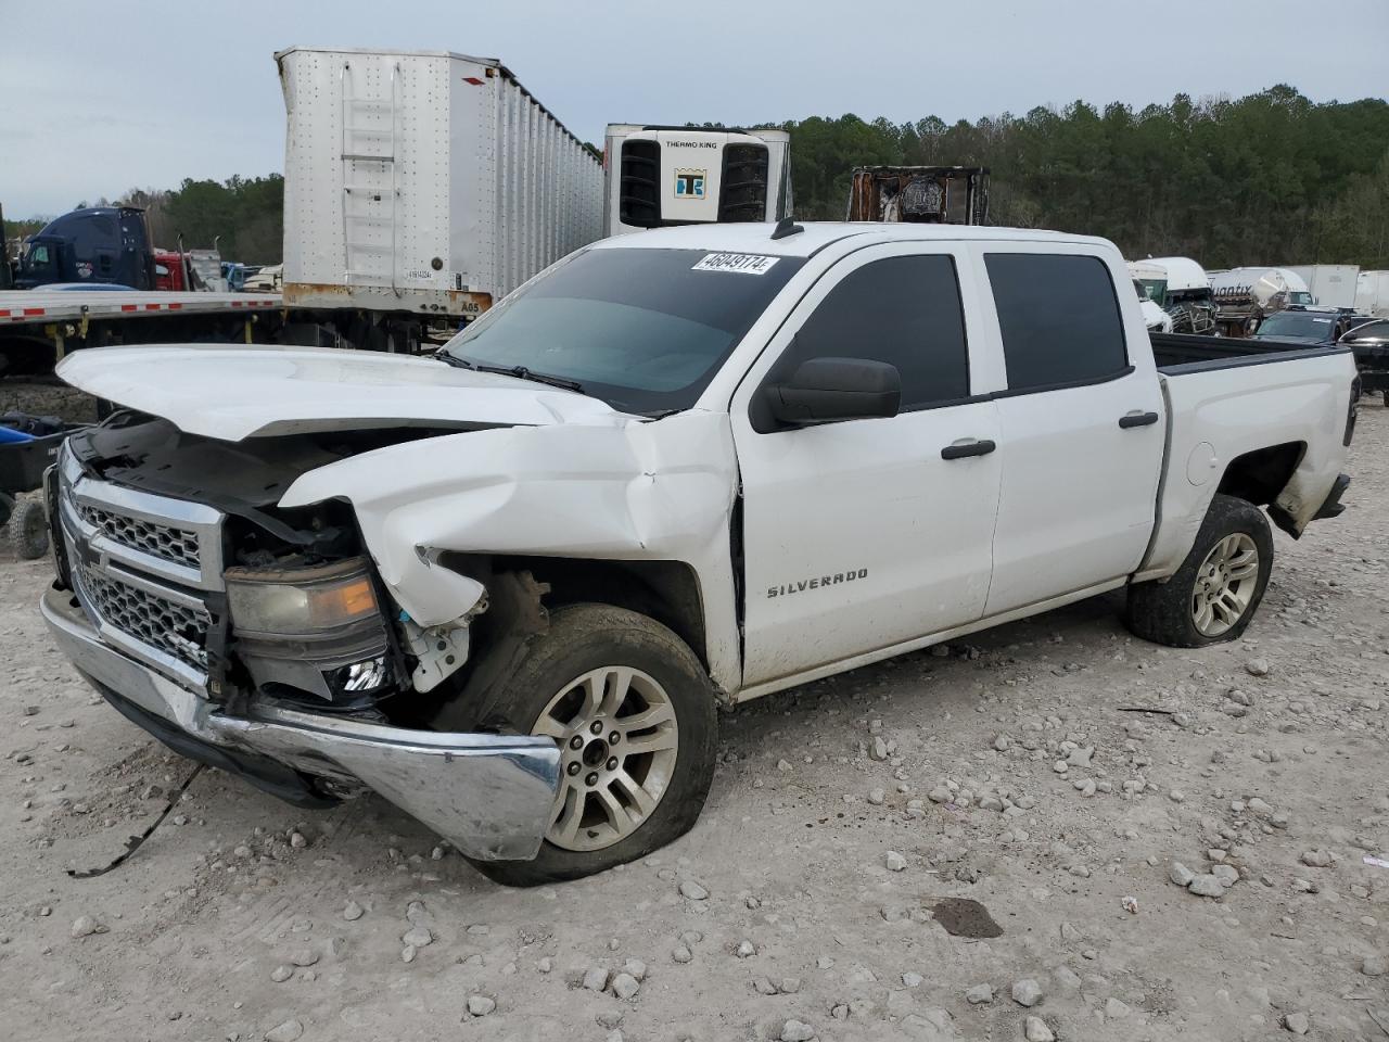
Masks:
[[[707,250],[586,250],[443,352],[576,381],[624,413],[689,408],[806,261]]]

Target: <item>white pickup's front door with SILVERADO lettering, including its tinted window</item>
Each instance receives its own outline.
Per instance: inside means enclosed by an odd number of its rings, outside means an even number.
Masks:
[[[735,393],[745,686],[900,645],[983,611],[999,425],[993,403],[971,397],[979,375],[971,372],[968,338],[979,301],[971,281],[958,276],[968,263],[964,249],[949,243],[851,253],[796,306]],[[776,427],[764,410],[764,388],[815,357],[896,365],[901,411]],[[951,458],[942,457],[953,445]]]

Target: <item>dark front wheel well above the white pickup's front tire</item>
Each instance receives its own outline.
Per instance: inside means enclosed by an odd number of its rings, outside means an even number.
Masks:
[[[465,557],[471,556],[446,554],[442,563],[472,575],[483,585],[488,582],[488,574],[531,572],[538,584],[549,588],[542,596],[542,603],[547,609],[600,603],[639,611],[669,627],[708,670],[704,602],[694,570],[683,561],[497,556],[485,563],[476,559],[467,563]]]

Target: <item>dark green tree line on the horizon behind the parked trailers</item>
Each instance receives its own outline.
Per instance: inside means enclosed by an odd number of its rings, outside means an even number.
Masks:
[[[1236,100],[1140,110],[1061,110],[895,124],[857,115],[771,124],[790,131],[796,214],[845,215],[858,165],[989,167],[992,224],[1113,239],[1128,257],[1190,256],[1206,267],[1358,264],[1389,268],[1389,103],[1314,103],[1279,85]],[[183,181],[132,190],[154,239],[222,256],[281,258],[283,178]],[[6,233],[25,222],[6,222]],[[13,231],[15,229],[15,231]]]

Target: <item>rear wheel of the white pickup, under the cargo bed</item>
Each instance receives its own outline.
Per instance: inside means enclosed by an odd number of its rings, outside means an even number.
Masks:
[[[1125,621],[1135,635],[1168,647],[1235,640],[1258,610],[1272,567],[1264,511],[1217,495],[1176,574],[1129,586]]]

